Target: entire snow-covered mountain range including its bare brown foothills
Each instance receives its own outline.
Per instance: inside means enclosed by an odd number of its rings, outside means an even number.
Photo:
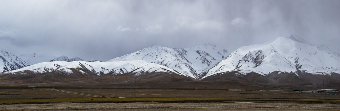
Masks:
[[[63,82],[85,77],[88,81],[209,81],[318,87],[322,79],[329,84],[340,81],[339,53],[325,45],[309,44],[296,35],[243,46],[233,52],[211,43],[191,48],[152,46],[106,62],[62,56],[33,64],[38,62],[35,57],[46,56],[21,55],[26,62],[5,51],[0,55],[4,64],[0,81]]]

